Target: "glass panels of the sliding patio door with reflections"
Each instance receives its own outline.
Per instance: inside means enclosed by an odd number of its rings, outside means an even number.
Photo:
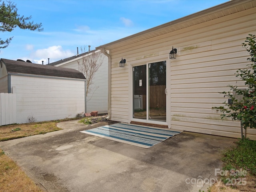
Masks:
[[[133,67],[133,96],[133,118],[166,122],[166,61]]]

